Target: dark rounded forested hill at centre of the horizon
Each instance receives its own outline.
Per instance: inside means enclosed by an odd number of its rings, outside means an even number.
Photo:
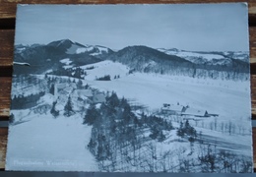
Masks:
[[[181,57],[167,55],[147,46],[128,46],[107,57],[140,72],[161,73],[175,68],[192,68],[193,63]],[[165,73],[165,72],[164,72]]]

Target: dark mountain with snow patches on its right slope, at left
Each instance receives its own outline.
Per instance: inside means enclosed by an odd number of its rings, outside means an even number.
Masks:
[[[14,60],[30,63],[31,67],[24,69],[21,66],[16,66],[14,70],[15,73],[41,74],[64,65],[60,62],[62,59],[69,58],[72,66],[81,66],[99,62],[101,58],[112,52],[106,47],[83,45],[69,39],[52,41],[46,45],[16,45]]]

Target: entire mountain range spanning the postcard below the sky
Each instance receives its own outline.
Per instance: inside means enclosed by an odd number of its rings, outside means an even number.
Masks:
[[[29,71],[16,68],[21,73],[40,74],[49,69],[57,70],[64,66],[60,60],[65,58],[70,59],[72,67],[111,60],[125,64],[133,71],[190,77],[218,77],[220,74],[213,73],[229,72],[222,74],[229,78],[236,76],[233,73],[246,74],[249,71],[249,63],[245,61],[248,56],[243,52],[189,52],[176,48],[155,49],[145,45],[127,46],[113,51],[105,46],[83,45],[70,39],[52,41],[46,45],[15,47],[15,61],[28,62],[34,66]]]

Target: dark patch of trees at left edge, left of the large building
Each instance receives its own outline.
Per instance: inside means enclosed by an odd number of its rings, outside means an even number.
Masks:
[[[40,91],[35,94],[30,95],[15,95],[12,98],[11,109],[27,109],[36,105],[36,102],[41,96],[43,96],[45,91]]]

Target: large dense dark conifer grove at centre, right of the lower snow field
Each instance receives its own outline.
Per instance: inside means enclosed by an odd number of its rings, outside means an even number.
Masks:
[[[138,118],[131,111],[128,101],[119,99],[114,92],[106,97],[99,109],[93,104],[90,106],[84,123],[93,125],[88,148],[98,161],[115,161],[116,148],[136,145]]]

